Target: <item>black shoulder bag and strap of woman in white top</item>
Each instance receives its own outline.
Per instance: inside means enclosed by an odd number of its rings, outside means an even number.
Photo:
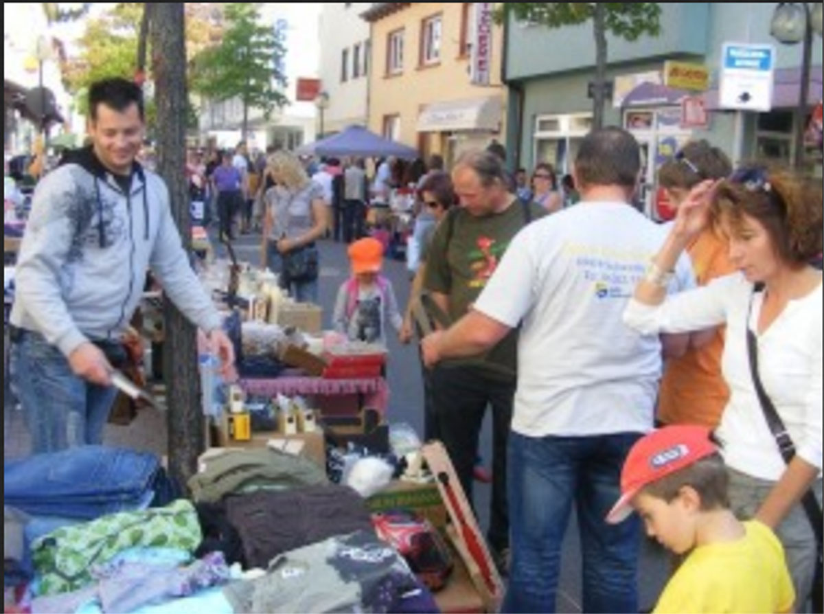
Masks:
[[[755,297],[755,293],[761,291],[763,286],[761,284],[756,284],[756,288],[753,292],[753,297]],[[750,315],[752,313],[752,298],[750,299]],[[747,322],[750,321],[749,316],[747,316]],[[780,415],[778,415],[778,411],[775,410],[775,405],[773,405],[770,396],[767,395],[764,385],[761,383],[761,376],[758,373],[758,340],[756,338],[756,334],[750,329],[747,325],[747,354],[749,354],[750,358],[750,371],[752,373],[752,383],[756,387],[756,394],[758,395],[758,400],[761,401],[761,410],[764,411],[764,418],[766,419],[767,425],[770,427],[770,432],[775,437],[775,443],[778,446],[779,452],[781,452],[781,457],[784,458],[784,462],[788,465],[795,457],[795,444],[793,440],[789,437],[789,433],[787,432],[786,427],[784,426],[784,421],[781,419]],[[816,571],[814,579],[812,580],[812,594],[810,598],[812,598],[812,612],[816,612],[817,614],[821,614],[822,610],[824,610],[824,604],[822,604],[822,593],[824,593],[824,551],[822,551],[822,523],[824,523],[824,513],[822,513],[822,507],[818,504],[818,500],[816,499],[816,495],[812,493],[812,489],[808,490],[803,498],[801,499],[801,505],[804,509],[804,513],[807,514],[807,518],[812,525],[812,532],[816,537],[816,548],[817,548],[817,559],[816,559]],[[798,596],[800,599],[801,596]]]

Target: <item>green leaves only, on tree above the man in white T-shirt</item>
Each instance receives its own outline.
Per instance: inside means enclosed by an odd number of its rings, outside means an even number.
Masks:
[[[606,31],[622,39],[657,36],[661,31],[661,7],[657,2],[602,2],[606,9]],[[590,19],[595,2],[504,2],[496,18],[512,14],[518,21],[560,28],[579,26]]]

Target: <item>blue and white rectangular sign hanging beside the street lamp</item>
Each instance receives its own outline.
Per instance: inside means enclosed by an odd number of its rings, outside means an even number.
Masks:
[[[775,47],[725,43],[721,54],[719,106],[722,109],[772,109]]]

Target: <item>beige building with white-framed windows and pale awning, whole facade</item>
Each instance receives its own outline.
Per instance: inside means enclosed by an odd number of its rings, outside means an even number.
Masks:
[[[473,2],[380,2],[363,14],[372,26],[369,128],[422,157],[485,148],[506,134],[503,27],[479,32]],[[491,6],[491,5],[489,5]],[[482,39],[479,37],[482,35]],[[485,45],[489,82],[472,82],[472,45]]]

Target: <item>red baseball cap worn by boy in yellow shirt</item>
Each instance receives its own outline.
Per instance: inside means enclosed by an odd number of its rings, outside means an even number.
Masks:
[[[632,513],[630,501],[644,486],[718,452],[709,432],[691,424],[666,426],[635,442],[620,472],[620,499],[606,522],[623,522]]]

